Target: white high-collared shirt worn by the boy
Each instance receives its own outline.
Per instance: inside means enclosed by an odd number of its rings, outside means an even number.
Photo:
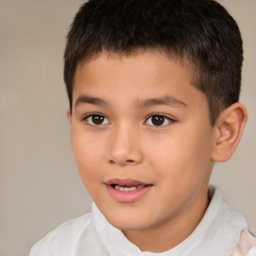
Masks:
[[[247,229],[246,220],[223,202],[218,187],[209,186],[208,193],[212,198],[198,226],[168,251],[141,251],[93,203],[91,213],[64,222],[35,243],[30,256],[228,256]]]

